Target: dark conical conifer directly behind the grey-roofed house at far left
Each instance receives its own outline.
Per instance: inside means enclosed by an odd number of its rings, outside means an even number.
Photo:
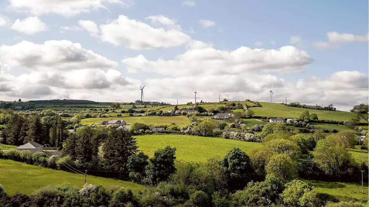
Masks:
[[[45,128],[41,117],[34,115],[30,118],[30,125],[27,131],[27,141],[34,141],[39,144],[45,144]]]

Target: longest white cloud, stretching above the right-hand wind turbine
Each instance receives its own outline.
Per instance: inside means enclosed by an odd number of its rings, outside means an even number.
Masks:
[[[277,50],[240,47],[231,52],[216,50],[193,41],[188,50],[173,60],[147,60],[143,55],[122,60],[130,71],[142,70],[168,76],[223,75],[250,71],[298,72],[313,59],[304,50],[284,46]]]

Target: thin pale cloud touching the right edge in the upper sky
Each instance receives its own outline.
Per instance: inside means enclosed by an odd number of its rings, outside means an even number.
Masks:
[[[328,42],[314,42],[317,49],[335,49],[345,43],[369,42],[369,33],[365,35],[354,35],[348,33],[328,32]]]

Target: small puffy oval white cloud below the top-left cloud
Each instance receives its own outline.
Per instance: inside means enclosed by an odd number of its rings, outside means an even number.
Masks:
[[[34,35],[38,32],[45,31],[47,26],[38,17],[27,17],[24,20],[15,20],[13,25],[11,25],[11,29],[23,32],[26,35]]]

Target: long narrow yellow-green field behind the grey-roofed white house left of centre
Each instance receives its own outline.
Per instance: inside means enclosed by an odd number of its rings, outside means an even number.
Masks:
[[[101,122],[108,121],[110,119],[112,118],[87,118],[82,119],[81,124],[100,124]],[[131,116],[123,118],[116,117],[113,119],[124,119],[127,123],[143,123],[153,125],[165,125],[174,122],[181,127],[190,124],[190,120],[187,118],[187,116]]]

